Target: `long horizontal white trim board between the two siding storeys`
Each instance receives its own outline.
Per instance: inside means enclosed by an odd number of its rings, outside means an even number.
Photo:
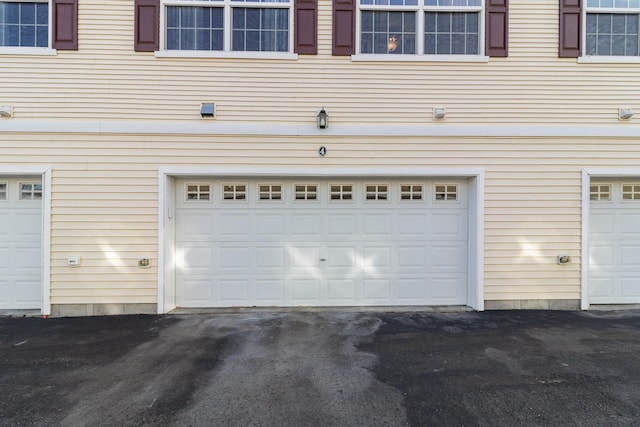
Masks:
[[[430,114],[430,113],[429,113]],[[194,109],[194,117],[199,110]],[[426,117],[425,124],[376,125],[331,124],[318,129],[315,116],[308,124],[291,123],[223,123],[211,119],[192,121],[75,121],[0,119],[1,133],[87,133],[130,135],[278,135],[278,136],[405,136],[405,137],[618,137],[638,138],[640,126],[620,122],[612,125],[464,125],[451,122],[434,122]],[[179,126],[176,126],[177,124]]]

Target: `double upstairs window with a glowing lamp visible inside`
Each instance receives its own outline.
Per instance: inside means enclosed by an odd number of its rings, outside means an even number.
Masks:
[[[483,10],[483,0],[359,0],[359,53],[480,55]]]

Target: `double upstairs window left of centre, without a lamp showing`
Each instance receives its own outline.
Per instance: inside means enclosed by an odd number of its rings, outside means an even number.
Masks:
[[[164,49],[291,52],[292,0],[163,0]]]

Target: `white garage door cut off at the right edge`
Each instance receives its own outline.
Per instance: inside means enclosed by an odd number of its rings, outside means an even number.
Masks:
[[[640,303],[640,181],[594,181],[589,302]]]

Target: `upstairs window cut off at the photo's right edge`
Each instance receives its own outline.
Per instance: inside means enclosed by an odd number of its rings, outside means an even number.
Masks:
[[[639,56],[640,0],[587,0],[585,55]]]

